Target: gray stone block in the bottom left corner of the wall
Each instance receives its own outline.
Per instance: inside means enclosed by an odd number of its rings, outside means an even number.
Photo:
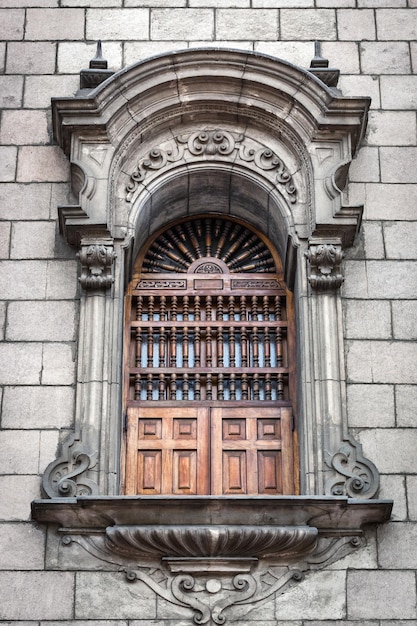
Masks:
[[[70,619],[73,595],[68,572],[0,572],[0,619]]]

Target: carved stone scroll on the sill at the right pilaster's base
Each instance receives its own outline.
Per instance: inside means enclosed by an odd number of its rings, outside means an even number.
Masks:
[[[362,446],[353,437],[343,441],[336,452],[326,453],[326,465],[336,472],[326,483],[327,495],[369,499],[377,494],[378,470],[362,455]]]

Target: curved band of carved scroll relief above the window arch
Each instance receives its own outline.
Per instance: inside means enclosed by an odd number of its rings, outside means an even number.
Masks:
[[[126,200],[130,202],[133,199],[139,183],[150,172],[161,170],[177,161],[187,163],[198,157],[204,157],[205,160],[226,158],[234,163],[251,163],[261,171],[270,172],[274,183],[282,187],[289,202],[295,204],[297,189],[283,160],[271,149],[259,146],[259,144],[253,147],[254,144],[254,141],[249,141],[243,134],[220,129],[203,130],[174,137],[163,146],[152,148],[147,156],[138,162],[126,187]]]

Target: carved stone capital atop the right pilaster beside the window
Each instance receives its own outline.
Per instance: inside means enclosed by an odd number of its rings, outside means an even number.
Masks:
[[[343,283],[340,264],[343,259],[342,247],[337,244],[322,243],[310,245],[305,253],[310,262],[310,285],[316,291],[333,291]]]

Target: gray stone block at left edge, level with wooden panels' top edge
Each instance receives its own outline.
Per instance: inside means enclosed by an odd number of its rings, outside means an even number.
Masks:
[[[5,387],[2,428],[65,428],[72,424],[71,387]]]

